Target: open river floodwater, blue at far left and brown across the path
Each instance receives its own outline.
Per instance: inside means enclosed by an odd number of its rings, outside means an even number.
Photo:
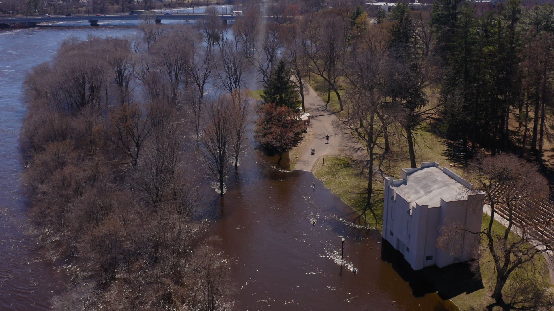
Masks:
[[[48,309],[64,287],[58,269],[40,261],[25,236],[17,149],[25,72],[51,59],[65,38],[136,32],[121,22],[57,26],[0,30],[0,310]],[[382,259],[379,232],[355,225],[350,208],[314,175],[278,171],[272,161],[253,148],[224,199],[213,201],[212,232],[233,258],[237,310],[444,309],[436,293],[413,294],[417,280],[403,279]]]

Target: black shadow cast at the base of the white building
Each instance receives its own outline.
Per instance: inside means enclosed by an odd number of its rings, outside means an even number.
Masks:
[[[402,253],[386,240],[382,240],[381,259],[392,264],[416,297],[438,292],[441,299],[448,300],[461,293],[469,294],[484,288],[481,277],[475,277],[469,263],[455,263],[444,268],[430,266],[414,271]]]

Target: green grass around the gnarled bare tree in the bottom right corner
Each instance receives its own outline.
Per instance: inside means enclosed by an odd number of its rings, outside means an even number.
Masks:
[[[483,214],[483,227],[488,226],[490,221],[490,217],[486,214]],[[500,224],[500,222],[494,221],[493,222],[493,231],[502,233],[504,232],[505,227]],[[519,239],[517,235],[510,232],[509,240],[516,240]],[[486,246],[486,241],[481,241],[481,246],[484,248]],[[531,245],[529,245],[531,247]],[[481,277],[483,279],[483,289],[479,289],[478,291],[475,291],[473,293],[463,293],[460,294],[451,300],[458,305],[460,310],[485,310],[486,306],[493,303],[494,300],[490,298],[490,293],[493,292],[494,289],[494,281],[496,277],[496,272],[494,269],[494,263],[491,261],[492,257],[490,255],[490,252],[484,248],[483,250],[485,252],[484,256],[482,256],[480,260],[480,271],[481,271]],[[532,274],[530,271],[532,269],[529,269],[532,265],[535,266],[535,274]],[[527,279],[523,279],[523,284],[517,284],[515,281],[515,272],[512,273],[510,278],[508,279],[505,287],[504,287],[504,296],[506,297],[506,302],[509,302],[509,297],[512,295],[517,294],[519,291],[521,291],[522,287],[525,288],[525,285],[529,285],[530,281],[529,278],[537,278],[539,286],[543,287],[549,287],[550,286],[550,279],[548,277],[548,267],[546,265],[546,260],[542,256],[536,256],[531,263],[527,263],[527,265],[524,265],[524,268],[527,268],[526,272],[520,271],[520,273],[526,273],[525,276],[528,277]],[[535,283],[536,284],[536,283]],[[517,286],[519,285],[519,286]],[[496,309],[494,309],[496,310]],[[498,308],[497,310],[500,310]]]

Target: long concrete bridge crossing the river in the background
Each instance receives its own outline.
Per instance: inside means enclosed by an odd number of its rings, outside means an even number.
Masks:
[[[155,20],[156,23],[161,23],[162,20],[169,19],[179,19],[179,20],[197,20],[206,17],[206,14],[197,13],[197,14],[134,14],[134,15],[122,15],[122,14],[102,14],[102,15],[88,15],[88,14],[78,14],[71,16],[51,16],[51,17],[37,17],[37,16],[27,16],[27,17],[0,17],[0,25],[8,25],[14,23],[27,24],[30,27],[36,26],[38,23],[47,23],[47,22],[89,22],[91,25],[96,26],[98,22],[102,20]],[[218,17],[222,19],[224,23],[227,23],[228,20],[235,20],[237,15],[232,14],[218,14]]]

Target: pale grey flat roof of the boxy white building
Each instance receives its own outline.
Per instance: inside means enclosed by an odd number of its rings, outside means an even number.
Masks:
[[[417,170],[392,188],[412,205],[429,205],[429,208],[440,206],[440,199],[447,202],[465,200],[471,191],[438,167]]]

